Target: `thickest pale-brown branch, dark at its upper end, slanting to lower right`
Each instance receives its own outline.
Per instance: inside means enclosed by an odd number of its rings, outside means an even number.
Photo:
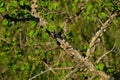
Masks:
[[[56,37],[55,34],[51,33],[51,35],[53,35],[53,37]],[[99,71],[95,69],[95,66],[87,59],[84,58],[83,56],[80,55],[80,53],[73,49],[73,47],[71,45],[69,45],[68,42],[65,42],[64,39],[61,39],[59,37],[56,37],[56,40],[59,42],[60,47],[69,55],[71,55],[72,57],[74,57],[75,59],[77,59],[76,61],[82,65],[84,65],[87,70],[89,70],[90,72],[92,72],[93,74],[97,74],[99,76],[101,76],[103,79],[108,80],[109,76],[106,75],[103,71]]]

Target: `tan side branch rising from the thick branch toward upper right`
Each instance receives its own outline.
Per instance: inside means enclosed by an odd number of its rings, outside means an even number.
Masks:
[[[98,30],[96,32],[96,34],[92,37],[91,42],[89,44],[89,48],[87,49],[87,52],[86,52],[86,58],[89,58],[89,56],[91,55],[91,51],[95,46],[97,39],[102,36],[102,34],[104,33],[104,30],[108,27],[108,25],[113,21],[113,19],[116,16],[117,16],[117,12],[112,14],[110,16],[110,18],[108,20],[106,20],[106,22],[104,24],[102,24],[102,27],[100,28],[100,30]]]

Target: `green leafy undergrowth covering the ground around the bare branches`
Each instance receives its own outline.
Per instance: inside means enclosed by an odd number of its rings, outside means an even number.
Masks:
[[[91,37],[101,26],[98,19],[104,23],[110,14],[120,10],[118,0],[89,0],[88,2],[85,0],[38,0],[37,4],[37,11],[48,22],[43,28],[38,27],[30,14],[29,0],[0,1],[0,80],[27,80],[49,67],[75,66],[73,59],[56,46],[56,41],[46,33],[46,29],[51,32],[61,32],[76,50],[85,55]],[[6,14],[12,20],[3,17]],[[95,64],[96,69],[111,75],[117,73],[120,68],[119,21],[120,17],[117,16],[113,23],[109,24],[110,27],[101,38],[101,45],[91,54],[95,54],[91,57],[95,62],[99,55],[111,50],[115,44],[115,49],[100,63]],[[65,33],[64,27],[66,27]],[[35,80],[63,79],[72,69],[54,71],[55,74],[48,71],[36,77]],[[68,80],[84,80],[84,72],[85,70],[78,71]],[[89,76],[92,74],[90,73]],[[95,77],[94,80],[99,80],[99,77]]]

